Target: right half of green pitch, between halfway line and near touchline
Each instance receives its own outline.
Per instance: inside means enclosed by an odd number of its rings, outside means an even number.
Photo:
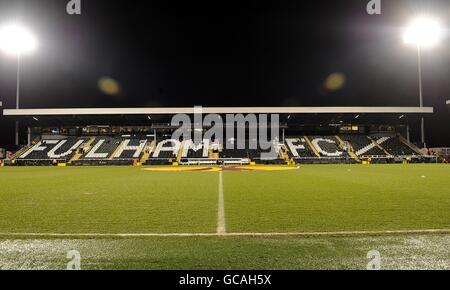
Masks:
[[[434,164],[225,172],[227,231],[448,229],[448,174]]]

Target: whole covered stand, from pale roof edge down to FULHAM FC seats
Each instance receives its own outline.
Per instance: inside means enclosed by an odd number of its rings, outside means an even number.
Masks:
[[[204,108],[203,113],[280,116],[275,158],[260,147],[225,148],[232,138],[172,139],[175,114],[193,108],[25,109],[4,115],[26,128],[26,145],[5,165],[243,165],[435,162],[410,140],[410,124],[432,108]],[[247,128],[248,129],[248,128]],[[208,130],[207,127],[202,129]],[[25,131],[25,130],[24,130]],[[248,135],[246,135],[248,136]],[[25,137],[25,135],[23,135]],[[25,140],[25,138],[23,138]],[[269,149],[270,150],[270,149]]]

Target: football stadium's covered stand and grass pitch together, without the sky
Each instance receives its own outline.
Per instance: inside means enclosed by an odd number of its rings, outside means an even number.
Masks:
[[[448,268],[450,168],[401,134],[432,108],[203,111],[280,114],[277,156],[171,139],[195,108],[4,110],[30,144],[1,168],[0,235],[33,256],[5,267],[58,268],[72,244],[87,269],[364,269],[372,248],[386,268]]]

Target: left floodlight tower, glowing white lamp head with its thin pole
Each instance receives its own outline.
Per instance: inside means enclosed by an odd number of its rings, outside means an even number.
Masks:
[[[33,34],[19,24],[7,24],[0,28],[0,49],[17,58],[16,109],[20,100],[20,62],[24,54],[36,49],[37,42]],[[19,145],[19,122],[16,121],[15,143]]]

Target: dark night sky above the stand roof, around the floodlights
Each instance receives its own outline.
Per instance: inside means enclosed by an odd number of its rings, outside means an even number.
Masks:
[[[0,0],[0,24],[18,17],[39,38],[26,56],[21,107],[417,106],[417,56],[402,27],[429,12],[450,24],[448,0],[106,1]],[[313,4],[312,4],[313,3]],[[447,31],[448,34],[448,31]],[[430,145],[450,145],[450,43],[423,52]],[[15,61],[0,54],[0,100],[15,105]],[[345,86],[323,83],[334,72]],[[102,77],[120,84],[102,93]],[[0,117],[0,144],[13,124]]]

